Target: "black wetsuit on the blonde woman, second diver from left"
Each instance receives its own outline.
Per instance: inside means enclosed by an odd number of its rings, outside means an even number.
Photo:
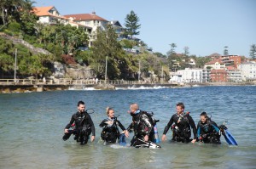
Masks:
[[[112,125],[108,125],[107,121],[113,121]],[[119,138],[120,132],[119,127],[124,131],[125,127],[122,125],[122,123],[117,120],[116,118],[113,119],[104,119],[100,127],[103,127],[101,132],[102,140],[104,140],[106,143],[116,143],[116,140]]]

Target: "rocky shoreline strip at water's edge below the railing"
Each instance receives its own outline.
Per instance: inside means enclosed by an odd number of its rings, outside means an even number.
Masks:
[[[207,83],[155,83],[155,84],[89,84],[89,85],[0,85],[1,93],[32,93],[32,92],[47,92],[47,91],[62,91],[62,90],[116,90],[134,89],[134,88],[153,88],[153,87],[207,87],[207,86],[255,86],[256,82],[207,82]]]

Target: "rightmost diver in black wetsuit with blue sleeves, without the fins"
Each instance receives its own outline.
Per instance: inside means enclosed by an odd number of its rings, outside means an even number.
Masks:
[[[206,112],[200,115],[197,125],[197,138],[201,143],[220,144],[220,131],[217,124],[208,117]]]

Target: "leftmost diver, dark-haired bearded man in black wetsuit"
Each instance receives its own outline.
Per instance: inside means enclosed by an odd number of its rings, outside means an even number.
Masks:
[[[92,136],[90,140],[91,142],[95,140],[94,123],[91,120],[90,115],[87,113],[87,111],[84,111],[84,109],[84,102],[79,101],[78,112],[72,115],[70,122],[64,129],[65,134],[62,138],[64,141],[66,141],[71,136],[71,134],[74,134],[74,139],[77,140],[77,142],[80,142],[81,145],[87,144],[91,132]],[[68,130],[70,127],[74,127],[74,129]]]

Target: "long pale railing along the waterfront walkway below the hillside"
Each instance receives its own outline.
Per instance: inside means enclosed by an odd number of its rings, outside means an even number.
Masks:
[[[174,82],[175,83],[175,82]],[[174,84],[172,82],[172,84]],[[136,85],[136,84],[170,84],[170,82],[161,81],[124,81],[124,80],[73,80],[70,78],[60,78],[55,80],[44,79],[0,79],[0,86],[4,85],[96,85],[96,84],[111,84],[111,85]]]

